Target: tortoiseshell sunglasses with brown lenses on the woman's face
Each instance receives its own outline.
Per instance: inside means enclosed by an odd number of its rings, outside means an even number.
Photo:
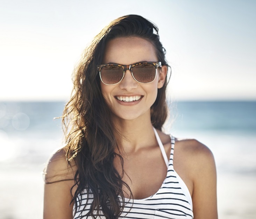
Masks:
[[[103,64],[98,66],[100,80],[107,85],[118,84],[125,77],[126,70],[131,71],[134,80],[139,83],[150,83],[156,78],[156,69],[161,62],[138,62],[132,65]]]

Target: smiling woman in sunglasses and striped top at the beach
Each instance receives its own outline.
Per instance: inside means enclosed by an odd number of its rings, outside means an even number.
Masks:
[[[158,28],[141,16],[94,38],[64,110],[66,146],[45,171],[44,219],[218,218],[211,151],[161,131],[167,71]]]

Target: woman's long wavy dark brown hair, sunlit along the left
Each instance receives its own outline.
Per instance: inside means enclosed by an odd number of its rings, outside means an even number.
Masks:
[[[159,41],[155,24],[139,15],[127,15],[112,21],[104,28],[85,50],[83,59],[73,74],[73,92],[63,113],[63,127],[66,139],[66,158],[75,161],[77,171],[74,176],[77,186],[73,200],[77,209],[79,194],[86,189],[93,194],[93,202],[86,216],[96,218],[100,211],[106,218],[118,218],[123,210],[123,187],[129,186],[122,181],[113,161],[120,154],[112,114],[101,95],[100,78],[97,66],[102,64],[106,43],[116,37],[136,36],[150,41],[156,50],[158,61],[168,66],[165,49]],[[166,91],[158,89],[155,103],[151,106],[151,122],[156,129],[162,129],[167,116]],[[73,188],[72,187],[72,188]],[[121,197],[121,199],[120,199]],[[131,195],[132,197],[132,195]],[[94,213],[93,213],[94,211]]]

